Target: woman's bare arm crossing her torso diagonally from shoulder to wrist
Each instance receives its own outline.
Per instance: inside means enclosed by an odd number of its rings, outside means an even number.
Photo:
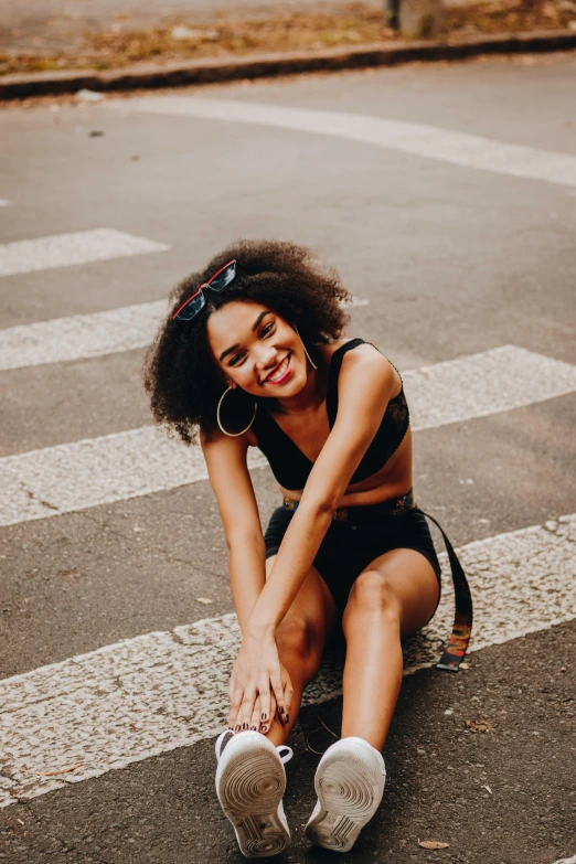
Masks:
[[[337,420],[249,616],[248,631],[255,639],[275,633],[298,594],[332,513],[382,423],[394,382],[390,362],[371,345],[344,355]]]

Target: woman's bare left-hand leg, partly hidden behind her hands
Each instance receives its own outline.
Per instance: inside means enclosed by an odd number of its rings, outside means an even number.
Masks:
[[[266,576],[276,556],[266,562]],[[330,590],[314,567],[311,567],[292,605],[276,631],[280,660],[288,670],[294,687],[289,722],[281,724],[277,714],[271,719],[267,737],[278,746],[284,744],[296,723],[302,691],[316,675],[326,640],[335,620],[335,605]]]

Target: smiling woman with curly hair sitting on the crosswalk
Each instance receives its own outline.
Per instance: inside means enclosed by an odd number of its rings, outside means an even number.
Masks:
[[[343,338],[349,292],[294,244],[236,243],[173,299],[145,383],[158,423],[186,444],[200,437],[242,631],[232,737],[216,747],[218,799],[244,855],[286,847],[285,742],[341,628],[342,737],[318,766],[306,833],[346,852],[384,791],[401,640],[440,598],[438,558],[412,494],[402,380],[376,348]],[[284,498],[264,536],[249,447],[265,454]]]

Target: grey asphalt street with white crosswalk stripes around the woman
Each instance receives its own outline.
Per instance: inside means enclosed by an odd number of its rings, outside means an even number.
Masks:
[[[340,270],[474,596],[468,665],[439,672],[442,555],[383,804],[338,861],[575,864],[575,74],[573,53],[2,108],[1,864],[244,860],[213,785],[238,644],[220,518],[139,380],[170,288],[238,236]],[[335,860],[302,826],[339,662],[290,742],[286,864]]]

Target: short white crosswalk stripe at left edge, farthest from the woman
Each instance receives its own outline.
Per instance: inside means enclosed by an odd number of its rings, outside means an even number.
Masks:
[[[72,267],[129,255],[166,252],[170,246],[125,234],[115,228],[53,234],[0,246],[0,276],[14,276],[55,267]]]

